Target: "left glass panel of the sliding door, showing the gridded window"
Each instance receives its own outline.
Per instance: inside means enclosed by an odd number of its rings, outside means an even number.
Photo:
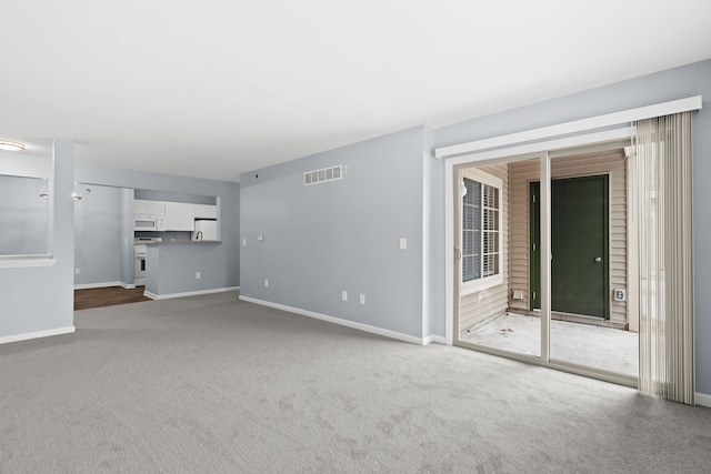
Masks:
[[[530,301],[528,182],[540,160],[458,171],[458,335],[462,343],[541,356],[541,317]]]

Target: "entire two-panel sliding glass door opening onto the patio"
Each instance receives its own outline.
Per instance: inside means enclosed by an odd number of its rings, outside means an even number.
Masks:
[[[455,168],[458,344],[635,383],[623,145]]]

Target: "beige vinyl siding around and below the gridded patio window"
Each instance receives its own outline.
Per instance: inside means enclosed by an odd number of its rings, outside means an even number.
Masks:
[[[509,172],[507,164],[480,167],[479,170],[502,181],[501,189],[501,273],[502,283],[475,293],[461,295],[459,306],[460,336],[472,325],[507,311],[509,306]]]

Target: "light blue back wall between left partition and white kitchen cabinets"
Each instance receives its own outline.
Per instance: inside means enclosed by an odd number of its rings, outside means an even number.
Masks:
[[[74,203],[74,269],[80,270],[74,284],[120,282],[122,190],[92,184],[77,188],[82,200]]]

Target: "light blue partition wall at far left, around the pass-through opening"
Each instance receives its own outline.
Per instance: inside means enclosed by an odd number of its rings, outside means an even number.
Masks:
[[[57,263],[42,268],[0,269],[0,337],[73,325],[73,157],[71,141],[53,141],[49,167],[49,251]],[[7,164],[3,160],[0,163],[0,167]]]

